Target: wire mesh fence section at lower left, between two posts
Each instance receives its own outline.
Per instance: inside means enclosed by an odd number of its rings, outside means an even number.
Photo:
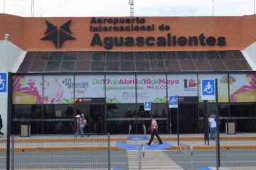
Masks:
[[[11,135],[10,151],[10,169],[110,170],[110,134]]]

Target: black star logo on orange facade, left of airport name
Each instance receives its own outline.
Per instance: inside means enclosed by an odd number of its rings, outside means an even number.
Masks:
[[[56,48],[60,48],[65,40],[75,40],[70,30],[71,20],[64,23],[60,28],[46,21],[47,30],[41,40],[51,40]]]

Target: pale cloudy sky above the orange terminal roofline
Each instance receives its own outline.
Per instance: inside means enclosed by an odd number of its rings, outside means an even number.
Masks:
[[[0,0],[0,13],[31,16],[31,0]],[[129,0],[34,0],[34,16],[129,16]],[[255,0],[214,0],[214,16],[254,13]],[[134,16],[212,16],[213,0],[134,0]]]

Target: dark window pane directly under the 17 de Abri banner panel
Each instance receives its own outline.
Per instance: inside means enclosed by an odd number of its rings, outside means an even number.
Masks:
[[[135,118],[136,104],[107,104],[107,118]]]

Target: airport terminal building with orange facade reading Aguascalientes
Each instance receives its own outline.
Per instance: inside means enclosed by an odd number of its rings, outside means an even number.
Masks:
[[[11,76],[11,132],[203,132],[201,79],[218,79],[220,132],[256,130],[256,16],[52,17],[0,14],[1,72]],[[4,40],[5,34],[9,34]],[[8,40],[7,40],[8,39]],[[0,84],[1,85],[1,84]],[[1,86],[0,86],[1,89]],[[7,95],[0,96],[6,130]],[[145,111],[144,102],[151,102]],[[215,101],[208,101],[215,113]]]

